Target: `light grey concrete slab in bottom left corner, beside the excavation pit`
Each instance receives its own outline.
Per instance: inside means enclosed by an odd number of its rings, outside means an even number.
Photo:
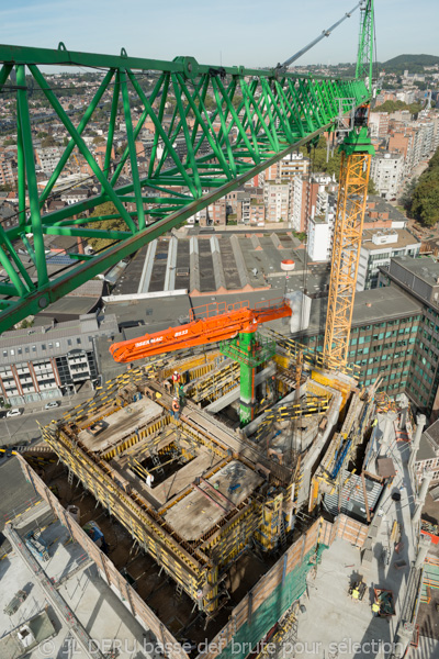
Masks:
[[[35,527],[35,520],[29,527]],[[21,529],[20,535],[23,536],[29,527]],[[49,547],[50,558],[48,561],[41,561],[41,566],[89,633],[90,650],[99,648],[105,652],[117,648],[120,650],[119,659],[150,657],[149,646],[146,645],[146,641],[151,638],[150,633],[142,627],[117,594],[102,580],[95,565],[90,566],[82,547],[68,541],[67,529],[58,521],[52,521],[43,529],[42,538]],[[49,640],[43,641],[26,657],[29,659],[42,659],[42,657],[61,659],[72,656],[75,659],[88,659],[92,656],[92,652],[86,652],[79,646],[70,635],[69,628],[63,624],[58,614],[47,603],[37,578],[21,557],[11,551],[7,558],[0,561],[0,637],[47,606],[47,613],[56,635]],[[8,616],[3,608],[20,589],[27,593],[27,599],[14,614]]]

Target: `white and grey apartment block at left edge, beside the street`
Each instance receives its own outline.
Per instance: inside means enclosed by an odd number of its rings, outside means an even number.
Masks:
[[[19,406],[75,392],[86,380],[99,376],[94,339],[114,337],[115,315],[98,321],[95,314],[47,327],[14,330],[2,335],[0,396]]]

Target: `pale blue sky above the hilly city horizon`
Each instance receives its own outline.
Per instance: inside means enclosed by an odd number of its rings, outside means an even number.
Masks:
[[[14,0],[0,2],[0,42],[200,63],[274,66],[357,0]],[[4,8],[4,9],[3,9]],[[375,0],[378,57],[439,56],[439,0]],[[297,64],[353,62],[359,12]]]

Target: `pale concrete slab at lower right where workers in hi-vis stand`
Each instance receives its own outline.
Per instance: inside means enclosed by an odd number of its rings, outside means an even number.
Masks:
[[[306,655],[306,647],[319,643],[320,646],[315,647],[315,651],[320,657],[324,651],[336,656],[334,652],[337,647],[338,654],[346,657],[384,659],[391,654],[389,647],[383,646],[372,651],[368,644],[373,639],[386,644],[394,643],[398,621],[401,617],[406,619],[406,595],[412,596],[407,585],[410,565],[415,560],[417,534],[410,522],[413,491],[407,470],[409,448],[405,444],[396,443],[393,429],[392,433],[387,455],[392,458],[397,474],[393,485],[385,489],[376,512],[381,524],[376,535],[369,540],[371,560],[364,560],[367,557],[362,558],[359,549],[341,539],[336,539],[331,547],[324,551],[316,578],[308,583],[308,597],[303,600],[306,613],[299,617],[297,640],[308,646],[305,646],[303,652],[296,651],[296,656]],[[399,502],[391,498],[396,489],[401,493]],[[390,541],[394,520],[398,522],[402,534],[398,552]],[[397,569],[396,561],[403,561],[405,566]],[[362,602],[354,602],[350,600],[348,589],[350,581],[359,574],[363,577],[368,590]],[[395,616],[372,616],[374,587],[393,591]],[[348,644],[347,648],[338,645],[344,639]],[[362,645],[354,647],[354,643]]]

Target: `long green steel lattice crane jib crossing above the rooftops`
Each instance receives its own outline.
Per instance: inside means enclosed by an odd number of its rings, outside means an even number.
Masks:
[[[215,68],[200,65],[192,57],[160,62],[120,56],[0,46],[0,91],[16,99],[19,225],[0,227],[0,264],[5,277],[0,282],[0,332],[29,314],[36,314],[98,273],[133,254],[140,246],[207,206],[227,192],[263,171],[285,154],[328,131],[339,114],[339,99],[351,99],[358,107],[370,98],[362,79],[327,79],[244,67]],[[103,78],[79,123],[74,124],[41,66],[81,66],[103,69]],[[94,68],[93,68],[94,67]],[[15,80],[11,77],[15,71]],[[65,152],[44,190],[35,176],[34,146],[29,96],[32,80],[44,92],[54,115],[69,136]],[[27,74],[27,75],[26,75]],[[142,88],[142,76],[155,77],[150,92]],[[87,146],[83,134],[104,94],[111,94],[105,157],[99,163]],[[207,94],[215,109],[206,108]],[[108,97],[106,97],[108,98]],[[348,100],[349,99],[349,100]],[[170,120],[165,109],[173,101]],[[113,157],[113,141],[119,105],[126,124],[126,148]],[[142,105],[140,119],[133,125],[132,109]],[[147,176],[139,176],[136,139],[148,123],[154,126],[154,143]],[[175,144],[182,139],[184,155]],[[92,171],[100,193],[55,212],[47,201],[55,193],[74,150]],[[131,182],[121,185],[126,164]],[[126,170],[126,167],[125,167]],[[209,192],[206,192],[209,189]],[[111,201],[116,215],[81,217],[81,213]],[[135,211],[126,209],[135,203]],[[122,217],[124,231],[97,228],[93,223]],[[32,234],[30,241],[26,235]],[[63,235],[109,238],[112,244],[99,254],[72,255],[77,263],[53,275],[45,259],[45,236]],[[30,277],[18,254],[18,245],[35,265]]]

